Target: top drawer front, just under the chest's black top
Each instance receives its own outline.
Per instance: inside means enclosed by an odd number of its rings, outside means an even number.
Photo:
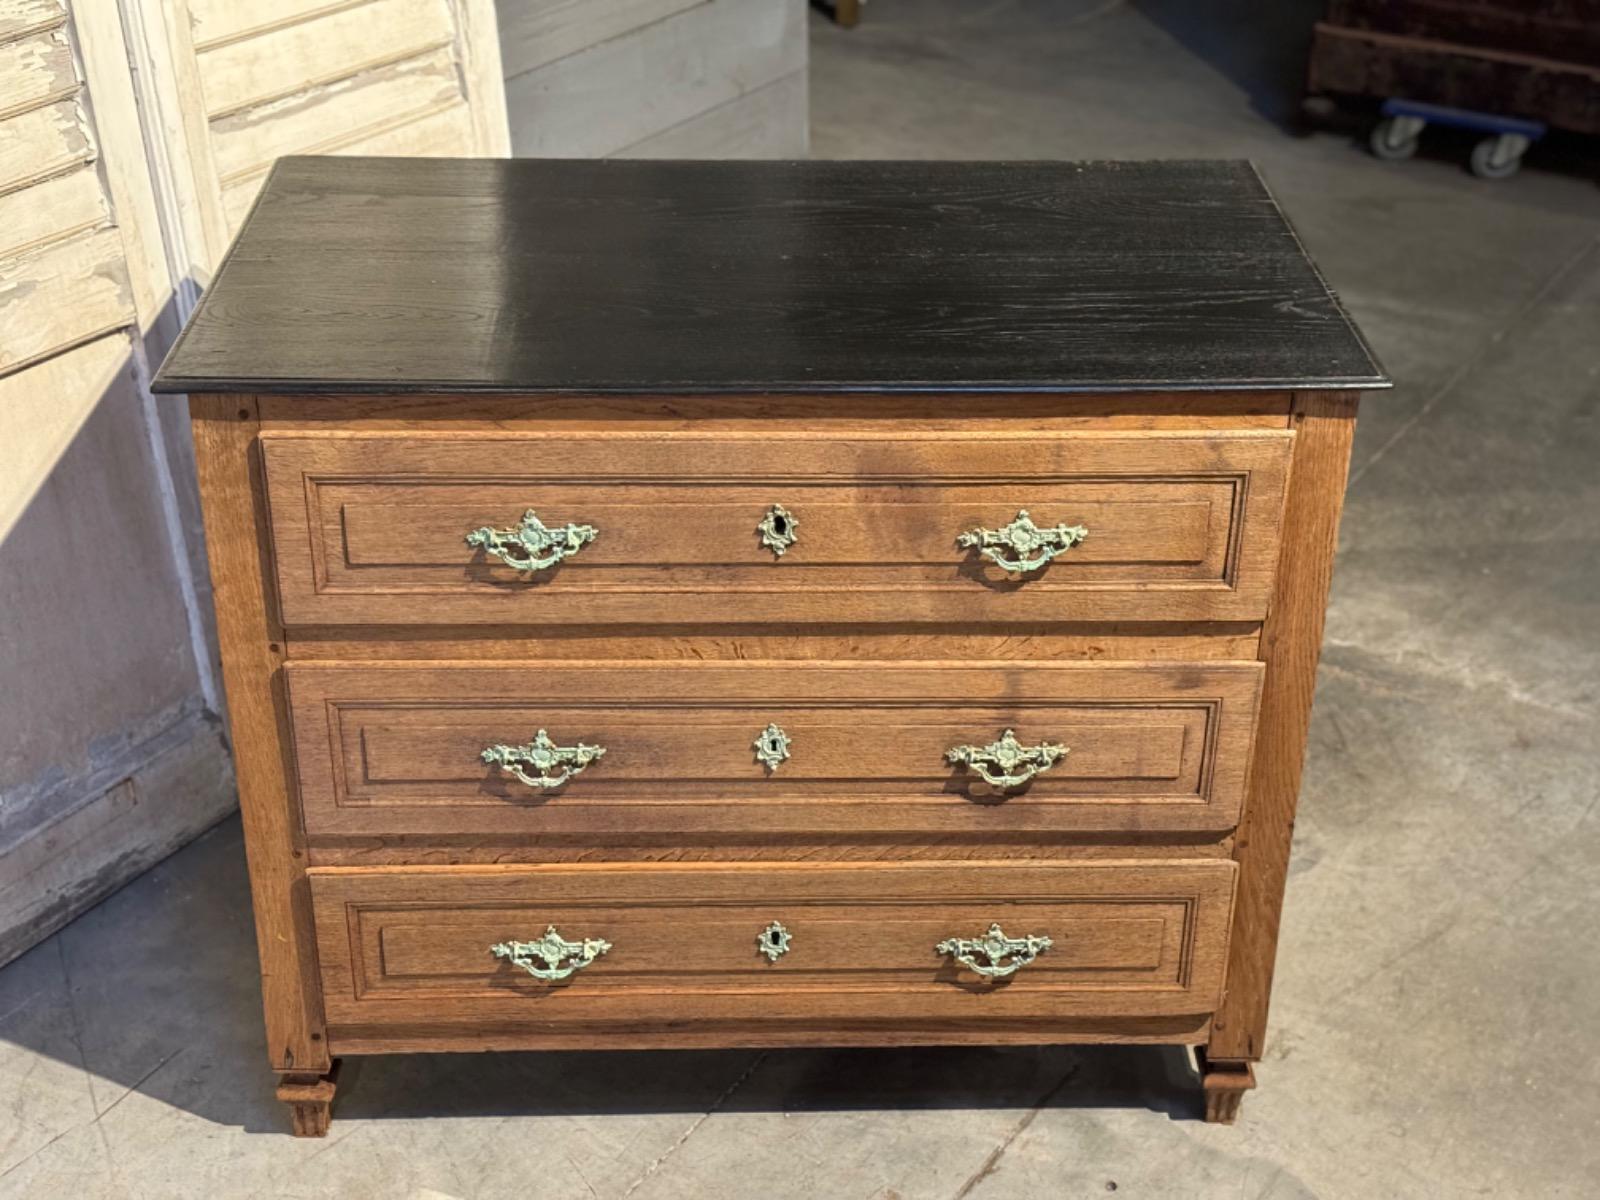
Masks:
[[[288,624],[1253,621],[1272,587],[1293,437],[450,432],[261,445]],[[1066,533],[1030,541],[1022,510]],[[528,512],[573,536],[518,544]],[[987,544],[963,538],[979,530]],[[554,562],[507,565],[530,560]]]

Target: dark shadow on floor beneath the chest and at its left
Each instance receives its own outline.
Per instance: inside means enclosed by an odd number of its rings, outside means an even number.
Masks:
[[[266,1066],[238,818],[0,973],[0,1040],[246,1131],[286,1128]],[[341,1118],[1142,1107],[1198,1117],[1179,1046],[550,1051],[347,1059]]]

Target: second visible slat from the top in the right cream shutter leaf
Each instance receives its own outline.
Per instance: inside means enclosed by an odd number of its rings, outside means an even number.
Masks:
[[[213,118],[450,45],[445,0],[371,0],[198,54]]]

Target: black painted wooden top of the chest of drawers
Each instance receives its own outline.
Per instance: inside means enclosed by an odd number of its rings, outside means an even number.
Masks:
[[[283,158],[158,392],[1384,387],[1250,163]]]

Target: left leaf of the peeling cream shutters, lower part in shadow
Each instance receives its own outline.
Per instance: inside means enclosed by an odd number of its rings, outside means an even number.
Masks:
[[[0,962],[232,806],[168,296],[115,5],[0,5]]]

